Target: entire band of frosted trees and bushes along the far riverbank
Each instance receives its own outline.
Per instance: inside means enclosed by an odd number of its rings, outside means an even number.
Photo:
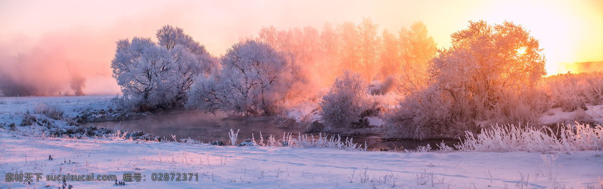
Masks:
[[[332,84],[317,102],[327,128],[362,127],[354,120],[382,111],[391,138],[441,137],[488,123],[534,125],[549,108],[537,90],[546,75],[542,49],[512,22],[470,21],[451,35],[448,49],[437,49],[421,22],[397,35],[385,29],[379,36],[370,18],[326,23],[322,31],[270,26],[258,34],[221,57],[170,25],[157,31],[157,42],[119,40],[112,68],[123,96],[114,101],[128,111],[273,115],[291,99],[315,95],[311,88],[322,82]],[[393,107],[367,91],[368,82],[386,76],[398,81]]]

